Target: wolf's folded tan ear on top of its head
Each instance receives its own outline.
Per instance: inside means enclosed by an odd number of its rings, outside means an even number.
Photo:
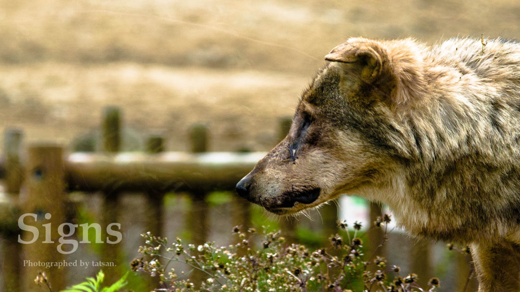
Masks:
[[[378,52],[379,51],[379,52]],[[325,60],[340,63],[360,63],[362,65],[361,78],[366,82],[373,82],[383,68],[382,50],[375,42],[358,42],[349,39],[325,56]]]

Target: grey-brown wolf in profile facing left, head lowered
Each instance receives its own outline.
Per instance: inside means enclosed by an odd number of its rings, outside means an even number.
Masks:
[[[412,235],[469,244],[480,292],[520,291],[520,44],[355,37],[325,59],[238,194],[278,215],[387,204]]]

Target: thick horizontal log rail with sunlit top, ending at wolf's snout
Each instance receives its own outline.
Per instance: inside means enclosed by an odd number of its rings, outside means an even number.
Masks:
[[[65,171],[71,191],[230,191],[265,154],[72,153]]]

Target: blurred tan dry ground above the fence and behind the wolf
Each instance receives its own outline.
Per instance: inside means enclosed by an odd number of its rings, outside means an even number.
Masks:
[[[267,151],[278,118],[349,36],[520,36],[520,2],[0,1],[0,130],[68,145],[119,105],[142,137],[187,150],[193,123],[210,150]],[[0,138],[2,139],[2,138]]]

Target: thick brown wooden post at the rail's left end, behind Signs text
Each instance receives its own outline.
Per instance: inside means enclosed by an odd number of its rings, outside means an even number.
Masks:
[[[47,291],[37,288],[34,278],[45,271],[53,291],[65,288],[67,268],[41,267],[39,262],[63,262],[59,251],[59,225],[65,221],[66,193],[63,148],[55,145],[37,145],[28,150],[28,162],[20,203],[24,215],[23,223],[35,227],[39,233],[34,243],[23,244],[23,291]],[[30,214],[25,217],[25,215]],[[36,217],[36,219],[34,219]],[[70,226],[69,226],[70,227]],[[49,232],[50,229],[50,232]],[[68,232],[62,230],[63,232]],[[24,231],[22,240],[31,242],[36,231]],[[62,246],[71,251],[72,246]]]

